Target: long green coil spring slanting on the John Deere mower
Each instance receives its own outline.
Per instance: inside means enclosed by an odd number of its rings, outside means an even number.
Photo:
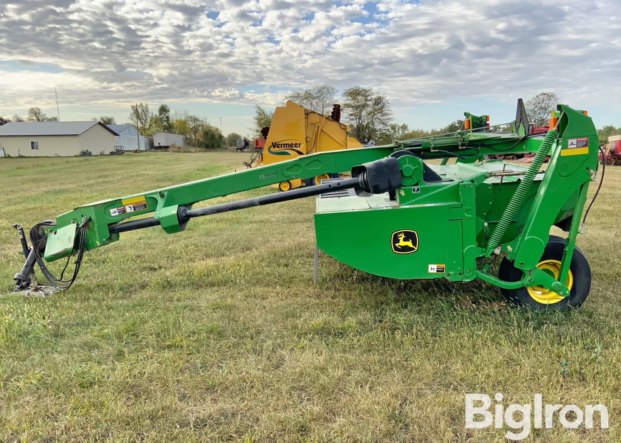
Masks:
[[[509,223],[511,223],[511,221],[513,220],[515,213],[520,208],[520,206],[522,206],[526,194],[528,193],[528,189],[530,189],[530,186],[532,186],[533,180],[535,179],[537,172],[539,172],[543,161],[548,156],[548,153],[550,153],[552,143],[554,143],[554,141],[556,140],[556,136],[558,136],[558,132],[556,132],[555,130],[549,130],[548,133],[545,135],[545,138],[543,138],[542,145],[539,146],[539,150],[537,151],[537,154],[535,154],[535,158],[533,158],[533,163],[528,166],[526,174],[524,174],[524,178],[522,178],[522,181],[517,186],[517,189],[515,189],[515,193],[513,194],[513,197],[511,197],[509,205],[507,205],[504,213],[502,213],[502,217],[498,221],[496,229],[494,229],[492,235],[489,236],[486,256],[489,256],[489,254],[491,254],[492,251],[496,249],[496,246],[498,246],[498,244],[501,242],[502,236],[509,227]]]

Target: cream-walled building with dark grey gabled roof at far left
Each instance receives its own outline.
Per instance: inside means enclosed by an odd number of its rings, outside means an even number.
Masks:
[[[0,126],[0,149],[11,157],[93,155],[114,151],[118,134],[100,122],[24,122]]]

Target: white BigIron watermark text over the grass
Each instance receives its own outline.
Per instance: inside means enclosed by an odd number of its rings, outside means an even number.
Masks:
[[[486,394],[466,394],[466,429],[483,429],[494,423],[494,427],[502,429],[504,424],[516,432],[508,431],[505,437],[510,440],[523,440],[534,429],[550,429],[555,421],[567,429],[593,428],[593,417],[599,421],[599,427],[608,427],[608,408],[604,405],[543,405],[542,394],[533,396],[533,403],[526,405],[504,405],[504,396],[497,392],[494,399],[493,413],[490,411],[492,399]],[[477,405],[475,405],[475,402]],[[517,417],[516,417],[517,416]]]

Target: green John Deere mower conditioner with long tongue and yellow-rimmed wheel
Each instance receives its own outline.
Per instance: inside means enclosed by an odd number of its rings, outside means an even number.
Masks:
[[[45,297],[68,289],[85,251],[127,231],[161,226],[182,235],[194,217],[316,195],[317,245],[351,267],[394,279],[478,278],[500,287],[516,305],[578,307],[591,287],[589,264],[575,246],[589,182],[596,177],[591,117],[558,105],[546,133],[529,133],[521,101],[511,133],[492,132],[486,116],[466,117],[465,129],[450,135],[310,154],[83,205],[32,226],[28,236],[14,225],[25,255],[15,291]],[[500,153],[535,156],[530,165],[484,161]],[[440,165],[428,159],[441,159]],[[222,195],[339,172],[351,172],[351,178],[193,208]],[[550,236],[553,225],[567,238]],[[497,275],[484,264],[492,254],[502,256]],[[46,264],[57,260],[66,261],[60,276]],[[35,265],[47,285],[37,283]]]

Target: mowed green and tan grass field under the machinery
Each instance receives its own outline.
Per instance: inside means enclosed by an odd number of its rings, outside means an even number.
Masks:
[[[465,429],[465,393],[496,392],[505,405],[542,393],[609,408],[609,429],[556,420],[527,441],[620,441],[618,167],[578,238],[593,282],[570,312],[506,309],[482,282],[389,280],[327,256],[313,285],[314,199],[126,233],[86,254],[68,292],[4,295],[22,266],[12,223],[247,156],[0,160],[0,441],[502,442],[508,427]]]

